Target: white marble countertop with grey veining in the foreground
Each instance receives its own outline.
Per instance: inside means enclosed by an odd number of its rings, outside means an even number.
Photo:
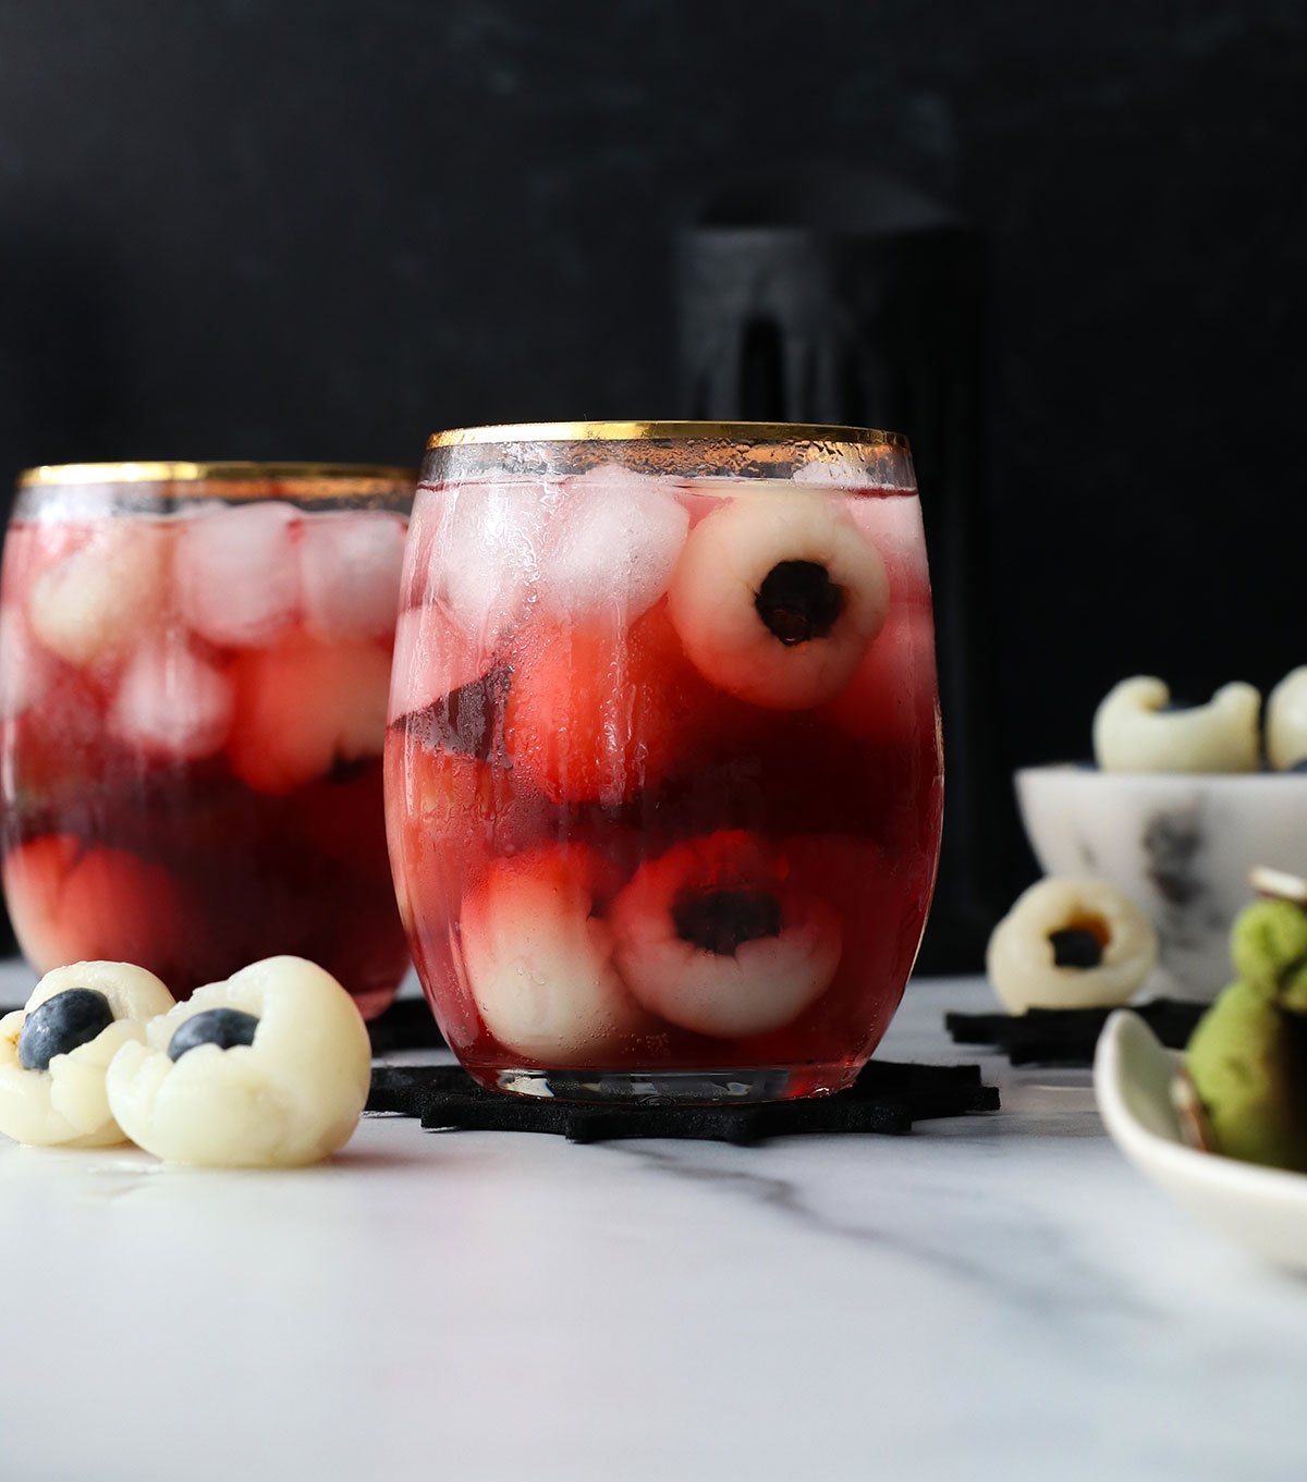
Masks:
[[[941,1015],[987,1002],[914,984],[882,1054],[974,1060]],[[0,1146],[0,1479],[1301,1482],[1307,1286],[1145,1184],[1086,1073],[984,1067],[1002,1113],[904,1138]]]

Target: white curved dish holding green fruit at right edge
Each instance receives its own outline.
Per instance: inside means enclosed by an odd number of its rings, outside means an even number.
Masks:
[[[1094,1055],[1098,1110],[1117,1147],[1154,1184],[1257,1255],[1307,1272],[1307,1175],[1185,1147],[1171,1106],[1180,1054],[1119,1009]]]

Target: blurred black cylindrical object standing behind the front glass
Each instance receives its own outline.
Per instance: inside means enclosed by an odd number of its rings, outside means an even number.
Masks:
[[[1015,855],[985,614],[985,261],[948,206],[846,167],[717,196],[677,243],[680,412],[907,433],[935,591],[947,805],[922,968],[980,965]]]

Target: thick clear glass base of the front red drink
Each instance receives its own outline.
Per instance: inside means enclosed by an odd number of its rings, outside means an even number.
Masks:
[[[754,1106],[843,1091],[858,1066],[759,1066],[750,1070],[476,1070],[492,1091],[591,1106]]]

